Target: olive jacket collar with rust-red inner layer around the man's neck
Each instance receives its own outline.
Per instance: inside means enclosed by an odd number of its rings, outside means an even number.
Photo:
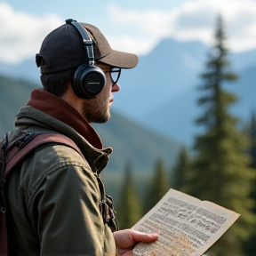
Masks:
[[[100,173],[108,164],[112,148],[102,148],[99,135],[83,116],[65,100],[49,94],[51,93],[33,90],[28,106],[21,108],[17,115],[16,127],[27,130],[51,130],[68,136],[80,148],[92,172]],[[49,100],[44,101],[45,97],[49,97]]]

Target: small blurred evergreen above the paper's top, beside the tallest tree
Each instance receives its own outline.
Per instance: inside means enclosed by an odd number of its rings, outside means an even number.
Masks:
[[[190,169],[191,160],[188,156],[188,151],[186,148],[182,147],[177,162],[174,165],[173,172],[171,173],[171,187],[185,192],[184,189],[186,189],[186,181]]]

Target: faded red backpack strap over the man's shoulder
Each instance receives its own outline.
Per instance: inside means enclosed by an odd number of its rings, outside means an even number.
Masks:
[[[29,152],[32,152],[36,148],[39,148],[40,146],[43,146],[45,144],[50,144],[50,143],[63,144],[70,148],[74,148],[76,152],[78,152],[84,158],[81,150],[76,146],[76,143],[73,140],[69,139],[67,136],[62,135],[60,133],[53,133],[53,132],[42,133],[42,134],[36,135],[36,137],[31,141],[29,141],[29,143],[25,147],[21,149],[20,148],[12,149],[12,151],[9,153],[6,159],[4,176],[8,177],[12,168],[16,164],[18,164],[21,160],[23,160],[25,156],[28,155]]]

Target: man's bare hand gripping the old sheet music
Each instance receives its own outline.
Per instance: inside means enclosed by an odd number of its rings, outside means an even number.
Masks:
[[[133,256],[132,249],[140,242],[152,243],[158,238],[157,234],[147,234],[132,229],[124,229],[114,232],[116,249],[119,256]]]

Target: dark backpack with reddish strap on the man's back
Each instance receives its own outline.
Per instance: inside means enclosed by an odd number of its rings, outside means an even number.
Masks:
[[[6,185],[13,168],[20,164],[25,156],[44,144],[62,144],[74,148],[81,156],[75,142],[60,133],[45,131],[12,131],[6,133],[0,141],[0,256],[8,254],[8,236],[6,227]],[[83,156],[84,158],[84,156]]]

